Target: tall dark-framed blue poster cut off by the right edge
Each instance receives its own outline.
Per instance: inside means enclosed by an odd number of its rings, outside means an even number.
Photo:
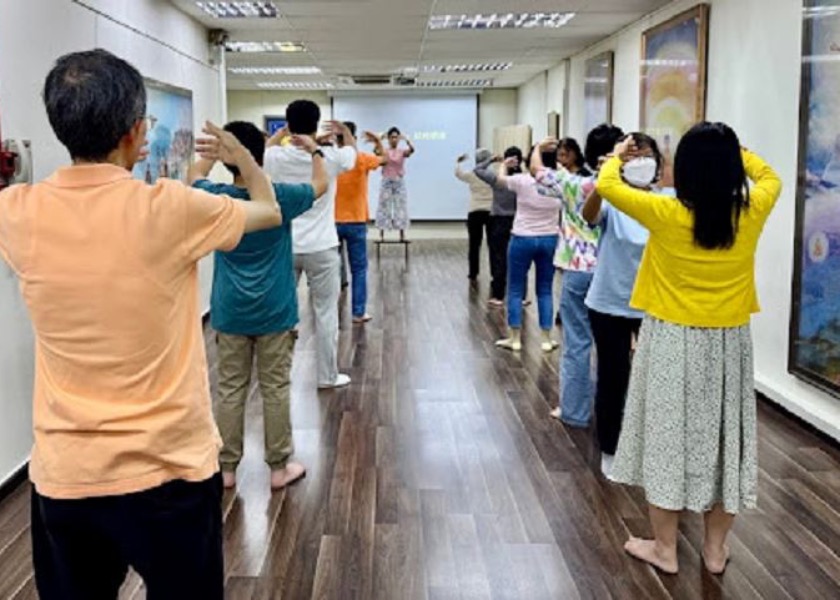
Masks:
[[[840,13],[806,0],[788,366],[840,395]]]

